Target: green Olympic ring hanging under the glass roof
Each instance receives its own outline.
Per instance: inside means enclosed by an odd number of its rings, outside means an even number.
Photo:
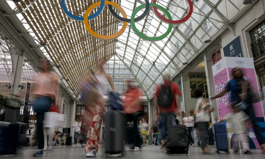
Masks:
[[[171,29],[173,27],[173,24],[169,24],[169,28],[167,29],[166,33],[164,33],[163,35],[160,35],[158,37],[149,37],[149,36],[146,36],[144,35],[143,33],[139,32],[139,30],[136,28],[135,26],[135,22],[134,22],[134,17],[136,15],[136,13],[141,10],[142,8],[144,8],[146,6],[146,4],[141,4],[139,5],[138,7],[136,7],[133,11],[132,11],[132,16],[131,16],[131,26],[132,26],[132,30],[133,32],[135,32],[135,34],[139,37],[139,38],[142,38],[144,40],[147,40],[147,41],[160,41],[164,38],[166,38],[166,36],[169,35],[169,33],[171,32]],[[163,13],[165,13],[167,15],[167,17],[169,19],[172,19],[170,13],[168,10],[166,10],[164,7],[162,7],[161,5],[158,5],[158,4],[154,4],[154,3],[151,3],[150,4],[151,7],[158,7]]]

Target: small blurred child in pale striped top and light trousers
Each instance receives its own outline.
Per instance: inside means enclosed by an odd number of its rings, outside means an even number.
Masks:
[[[240,111],[235,104],[232,104],[232,108],[233,112],[227,114],[227,116],[225,116],[219,122],[229,120],[232,123],[233,126],[232,128],[234,133],[232,136],[234,153],[238,153],[239,151],[239,144],[238,144],[239,142],[244,154],[252,154],[249,148],[249,137],[247,135],[247,128],[246,128],[246,121],[249,119],[249,116],[245,112]],[[249,121],[248,123],[251,124],[251,121]]]

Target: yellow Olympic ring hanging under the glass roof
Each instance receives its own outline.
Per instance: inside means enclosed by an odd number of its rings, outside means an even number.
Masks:
[[[87,10],[86,10],[86,13],[84,15],[84,19],[87,19],[88,15],[91,13],[91,11],[93,9],[95,9],[96,7],[98,7],[100,5],[100,3],[101,2],[96,2],[96,3],[92,4],[90,7],[88,7]],[[125,11],[123,10],[123,8],[120,5],[118,5],[118,4],[114,3],[114,2],[111,2],[111,1],[105,1],[105,5],[108,5],[108,4],[110,4],[113,7],[117,8],[120,11],[120,13],[123,15],[123,18],[127,18],[127,15],[126,15]],[[86,27],[87,31],[93,37],[101,39],[101,40],[112,40],[112,39],[115,39],[115,38],[119,37],[125,31],[128,22],[124,22],[122,28],[120,29],[120,31],[118,31],[117,33],[115,33],[113,35],[99,35],[99,34],[94,32],[90,28],[88,20],[84,20],[84,23],[85,23],[85,27]]]

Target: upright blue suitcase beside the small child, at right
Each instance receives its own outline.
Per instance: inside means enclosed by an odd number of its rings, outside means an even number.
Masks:
[[[216,141],[217,153],[220,153],[219,151],[224,151],[229,153],[225,124],[216,123],[214,126],[215,126],[215,141]]]

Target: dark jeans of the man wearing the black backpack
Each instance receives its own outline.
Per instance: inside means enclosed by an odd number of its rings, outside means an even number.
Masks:
[[[175,123],[175,115],[173,113],[160,113],[160,117],[163,125],[163,133],[160,132],[161,140],[166,140],[167,129],[171,125],[175,125],[173,124],[173,122]]]

